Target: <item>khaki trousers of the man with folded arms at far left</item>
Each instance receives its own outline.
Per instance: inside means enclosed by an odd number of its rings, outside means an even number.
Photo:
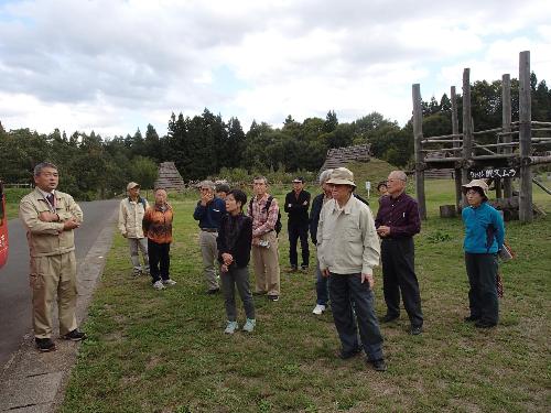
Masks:
[[[31,258],[33,327],[36,338],[52,337],[52,312],[57,295],[60,335],[77,328],[75,252]]]

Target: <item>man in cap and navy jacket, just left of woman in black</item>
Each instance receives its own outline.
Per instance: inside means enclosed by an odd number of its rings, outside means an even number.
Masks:
[[[198,188],[201,199],[197,202],[193,218],[199,221],[199,246],[207,282],[207,294],[216,294],[220,291],[216,276],[218,259],[216,238],[218,237],[222,217],[226,214],[226,204],[214,195],[214,182],[203,181]]]

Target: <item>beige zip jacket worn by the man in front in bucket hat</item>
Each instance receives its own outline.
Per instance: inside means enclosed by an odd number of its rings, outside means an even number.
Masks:
[[[336,274],[372,274],[379,264],[380,244],[371,209],[350,196],[343,209],[327,200],[317,225],[320,269]]]

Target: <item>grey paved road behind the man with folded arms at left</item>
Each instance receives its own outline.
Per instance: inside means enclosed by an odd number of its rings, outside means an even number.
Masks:
[[[91,296],[97,276],[102,271],[105,256],[111,244],[118,200],[79,203],[79,205],[83,208],[85,217],[83,226],[75,232],[79,285],[77,313],[78,319],[82,319],[86,314],[86,306]],[[75,346],[61,345],[58,346],[61,347],[61,351],[55,351],[52,356],[42,358],[40,357],[42,355],[34,350],[31,332],[31,294],[28,276],[29,249],[26,247],[24,230],[18,219],[10,220],[9,231],[10,256],[7,265],[0,270],[0,325],[2,326],[2,334],[0,335],[0,368],[2,368],[0,369],[0,379],[2,379],[0,388],[2,390],[0,392],[4,392],[2,394],[4,398],[0,396],[0,411],[10,409],[10,411],[14,412],[42,412],[46,410],[35,410],[35,407],[47,407],[47,403],[44,404],[43,400],[36,403],[32,400],[25,401],[25,396],[32,396],[33,385],[32,383],[18,382],[18,380],[24,378],[28,381],[30,377],[34,377],[34,380],[37,380],[36,378],[40,378],[42,374],[36,371],[51,369],[52,366],[47,363],[47,360],[54,361],[56,358],[67,359],[66,351],[71,354],[75,349]],[[67,348],[65,349],[65,347]],[[21,366],[24,366],[25,360],[32,366],[28,366],[26,369],[21,371]],[[44,365],[44,362],[46,363]],[[15,369],[15,365],[18,363],[20,365],[19,372]],[[62,366],[64,362],[57,360],[54,365]],[[34,374],[33,371],[36,373]],[[48,372],[47,374],[51,373]],[[18,374],[21,376],[19,379]],[[63,378],[60,371],[55,371],[53,374],[54,377],[58,377],[60,380]],[[20,389],[26,390],[24,394],[22,393],[25,396],[19,400],[18,398],[13,399],[13,396],[22,394],[11,393],[7,395],[6,392],[9,392],[9,387],[4,384],[8,382],[17,387],[23,385]],[[51,380],[46,380],[46,382],[50,383]],[[36,388],[36,394],[47,398],[52,391],[54,391],[53,394],[57,392],[57,388],[50,389],[51,391],[48,392],[48,387],[45,383],[41,383]],[[9,402],[9,396],[11,396],[11,402]],[[9,405],[7,404],[8,402]],[[18,406],[21,407],[24,405],[29,409],[31,406],[34,407],[31,410],[18,409]]]

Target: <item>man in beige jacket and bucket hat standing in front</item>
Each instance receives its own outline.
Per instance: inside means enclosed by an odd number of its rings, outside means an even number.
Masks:
[[[382,336],[374,308],[374,267],[380,256],[374,217],[353,195],[352,171],[333,170],[327,184],[332,199],[320,214],[317,259],[322,274],[329,278],[331,308],[342,346],[338,357],[349,359],[364,350],[366,361],[385,371]]]

